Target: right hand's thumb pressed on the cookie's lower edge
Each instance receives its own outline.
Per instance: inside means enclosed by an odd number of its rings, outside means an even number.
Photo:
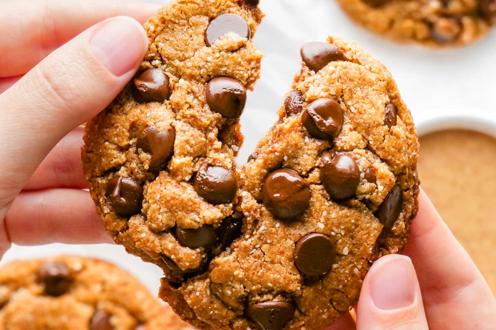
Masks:
[[[382,257],[365,276],[357,330],[411,329],[429,330],[412,262],[400,255]]]

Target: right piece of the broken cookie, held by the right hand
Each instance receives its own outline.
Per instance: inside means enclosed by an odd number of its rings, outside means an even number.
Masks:
[[[160,296],[201,329],[324,329],[372,262],[401,252],[418,209],[418,140],[386,67],[311,42],[279,121],[241,171],[242,235]]]

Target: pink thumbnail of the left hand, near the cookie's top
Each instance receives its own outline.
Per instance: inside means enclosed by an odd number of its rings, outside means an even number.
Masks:
[[[143,59],[146,34],[132,18],[115,17],[93,34],[90,47],[102,64],[120,77]]]

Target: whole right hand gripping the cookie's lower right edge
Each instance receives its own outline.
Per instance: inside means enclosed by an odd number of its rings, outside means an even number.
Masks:
[[[423,191],[419,205],[409,257],[377,260],[364,280],[356,325],[346,314],[328,330],[496,329],[496,300],[486,280]]]

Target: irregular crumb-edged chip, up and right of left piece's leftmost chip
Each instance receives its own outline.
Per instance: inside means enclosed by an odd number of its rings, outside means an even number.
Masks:
[[[176,141],[176,129],[169,128],[167,131],[159,131],[157,127],[151,126],[145,129],[136,140],[136,147],[150,154],[150,169],[158,170],[165,167],[174,153],[174,142]]]

